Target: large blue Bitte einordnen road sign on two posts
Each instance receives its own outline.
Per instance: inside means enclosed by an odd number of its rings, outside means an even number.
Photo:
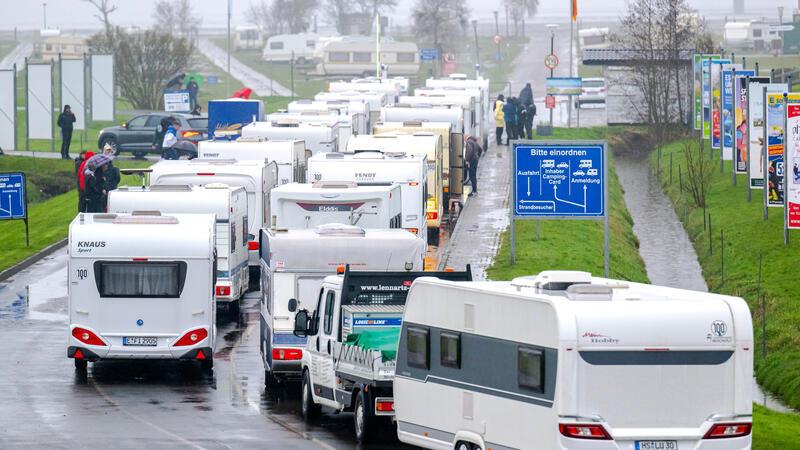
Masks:
[[[607,148],[605,141],[512,141],[512,264],[516,264],[517,220],[603,220],[603,266],[608,277]]]

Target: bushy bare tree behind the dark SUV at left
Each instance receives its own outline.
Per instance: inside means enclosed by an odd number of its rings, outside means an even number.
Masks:
[[[194,52],[187,38],[152,30],[128,34],[119,27],[88,44],[93,52],[114,53],[117,86],[135,109],[160,109],[166,82],[188,67]]]

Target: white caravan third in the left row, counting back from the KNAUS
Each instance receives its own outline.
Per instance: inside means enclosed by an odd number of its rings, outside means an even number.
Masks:
[[[223,183],[241,186],[247,192],[247,248],[250,279],[258,278],[258,230],[269,220],[269,193],[278,185],[278,166],[267,161],[193,159],[159,161],[151,166],[150,185]]]

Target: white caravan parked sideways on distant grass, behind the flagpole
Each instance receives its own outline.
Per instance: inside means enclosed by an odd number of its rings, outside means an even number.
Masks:
[[[382,41],[380,64],[390,76],[416,75],[419,72],[419,48],[413,42]],[[375,41],[369,38],[351,38],[332,41],[322,50],[322,61],[317,64],[317,74],[322,76],[374,76],[378,58]]]

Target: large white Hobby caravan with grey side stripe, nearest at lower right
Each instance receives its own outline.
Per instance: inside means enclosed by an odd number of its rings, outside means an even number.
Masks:
[[[397,354],[401,441],[433,449],[749,449],[741,298],[548,271],[415,281]]]

